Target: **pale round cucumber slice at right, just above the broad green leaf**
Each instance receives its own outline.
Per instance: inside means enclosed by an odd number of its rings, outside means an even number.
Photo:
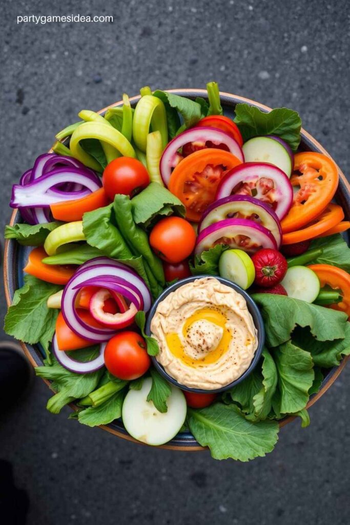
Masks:
[[[292,266],[281,281],[289,297],[313,302],[320,292],[320,280],[314,271],[306,266]]]

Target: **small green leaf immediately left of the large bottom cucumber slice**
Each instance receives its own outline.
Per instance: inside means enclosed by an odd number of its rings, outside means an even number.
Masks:
[[[122,415],[124,393],[116,392],[98,406],[89,406],[78,414],[78,421],[90,427],[107,425]]]

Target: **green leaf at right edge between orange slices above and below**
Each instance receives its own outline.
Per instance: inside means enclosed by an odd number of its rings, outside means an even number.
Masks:
[[[323,253],[312,260],[310,264],[330,264],[350,272],[350,248],[341,234],[337,233],[328,237],[313,239],[310,249],[314,248],[322,248]]]

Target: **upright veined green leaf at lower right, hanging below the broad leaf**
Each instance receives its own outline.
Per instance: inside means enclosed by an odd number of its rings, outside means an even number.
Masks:
[[[288,341],[275,349],[274,361],[278,373],[278,392],[274,402],[278,413],[299,412],[309,401],[309,390],[315,377],[311,354]]]

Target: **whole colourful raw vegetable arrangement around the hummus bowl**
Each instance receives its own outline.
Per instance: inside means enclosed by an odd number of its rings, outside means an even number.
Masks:
[[[82,110],[22,175],[10,206],[23,223],[5,237],[33,249],[5,330],[45,353],[50,412],[122,418],[150,445],[189,430],[214,458],[247,461],[285,416],[309,424],[310,396],[350,353],[350,223],[334,162],[298,151],[298,113],[237,104],[232,120],[207,90],[145,87],[135,107],[124,95],[103,116]],[[264,321],[258,365],[219,394],[168,383],[145,333],[154,301],[191,275],[236,283]]]

